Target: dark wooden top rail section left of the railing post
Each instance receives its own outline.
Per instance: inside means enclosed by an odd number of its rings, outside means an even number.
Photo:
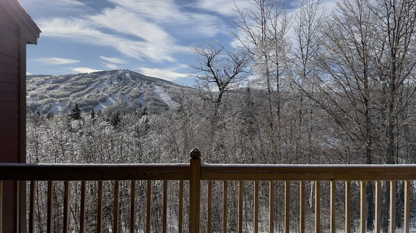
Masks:
[[[0,164],[0,180],[189,180],[189,164]]]

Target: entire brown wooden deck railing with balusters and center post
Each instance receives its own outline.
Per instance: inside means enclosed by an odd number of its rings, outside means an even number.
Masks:
[[[344,232],[351,232],[351,182],[360,183],[360,232],[366,232],[366,187],[367,182],[374,182],[375,187],[375,221],[374,232],[381,231],[381,181],[390,183],[390,232],[395,232],[396,214],[403,216],[403,232],[409,232],[410,227],[410,187],[412,186],[411,180],[416,180],[416,166],[415,165],[372,165],[372,166],[359,166],[359,165],[239,165],[239,164],[201,164],[200,153],[194,149],[191,151],[190,164],[0,164],[0,198],[2,200],[2,187],[4,182],[15,182],[15,187],[19,187],[19,182],[29,181],[29,203],[20,203],[16,205],[18,211],[26,213],[26,206],[28,207],[28,214],[20,214],[16,232],[36,232],[35,225],[35,209],[36,209],[36,185],[38,182],[47,182],[47,232],[54,232],[54,221],[56,221],[56,214],[53,213],[54,200],[56,194],[53,193],[54,185],[58,181],[63,181],[63,232],[69,231],[69,216],[70,216],[70,187],[72,182],[81,181],[80,200],[79,200],[79,232],[85,232],[86,225],[86,185],[89,181],[97,182],[97,196],[96,196],[96,232],[118,232],[120,227],[123,232],[136,232],[136,181],[143,180],[146,182],[146,210],[145,210],[145,232],[155,232],[152,230],[152,180],[160,180],[161,187],[163,189],[163,209],[161,210],[161,232],[173,231],[185,232],[184,222],[188,223],[189,232],[200,232],[200,223],[204,221],[204,231],[213,231],[212,223],[212,203],[213,194],[218,196],[218,193],[213,192],[213,186],[222,183],[222,227],[219,231],[227,232],[228,230],[234,232],[259,232],[259,214],[269,218],[267,228],[268,232],[275,232],[277,226],[275,225],[275,185],[280,182],[283,184],[282,196],[284,208],[282,209],[282,229],[284,232],[290,232],[291,218],[298,219],[296,224],[296,231],[305,232],[305,183],[312,182],[314,189],[314,232],[321,232],[321,182],[328,182],[329,200],[330,200],[330,232],[336,232],[336,230],[342,230]],[[113,200],[111,200],[113,206],[112,212],[112,226],[106,225],[103,229],[102,213],[103,213],[103,182],[111,180],[113,185]],[[120,222],[120,182],[129,181],[129,223]],[[177,220],[175,220],[175,227],[168,230],[168,181],[178,181],[178,193],[175,195],[178,198],[178,211]],[[229,181],[237,182],[238,194],[235,197],[237,202],[237,227],[230,229],[227,220],[229,219],[230,212],[228,211],[227,200],[229,198]],[[404,183],[404,208],[403,213],[396,213],[396,182],[403,181]],[[189,183],[189,186],[186,184]],[[202,182],[203,187],[202,189]],[[269,190],[266,196],[268,196],[269,207],[259,207],[259,199],[261,196],[259,186],[264,187],[264,182],[268,182]],[[344,226],[337,225],[336,214],[336,189],[337,184],[342,183],[344,187]],[[263,184],[263,185],[260,185]],[[298,195],[298,216],[291,216],[290,208],[291,198],[293,200],[294,184],[296,185],[296,195]],[[246,185],[250,185],[250,190],[253,193],[250,197],[253,199],[245,200],[248,191]],[[218,186],[218,185],[217,185]],[[221,185],[220,185],[221,186]],[[188,197],[189,195],[189,197]],[[220,195],[221,196],[221,195]],[[189,199],[187,199],[189,198]],[[203,198],[203,202],[202,202]],[[246,198],[247,199],[247,198]],[[184,201],[185,200],[185,201]],[[218,202],[218,201],[216,201]],[[243,204],[250,202],[253,204],[253,217],[252,223],[247,228],[248,223],[246,218],[243,218],[244,208]],[[0,202],[0,219],[2,219],[1,213],[3,201]],[[201,204],[204,204],[201,208]],[[27,205],[26,205],[27,204]],[[188,208],[189,205],[189,208]],[[184,209],[186,213],[184,213]],[[264,214],[268,209],[268,213]],[[201,219],[201,211],[205,212],[205,218]],[[187,215],[187,216],[186,216]],[[27,216],[27,221],[26,221]],[[186,218],[187,217],[187,218]],[[186,218],[186,219],[185,219]],[[0,232],[1,229],[0,221]],[[27,225],[26,225],[27,223]],[[339,221],[338,221],[339,223]],[[246,230],[243,229],[246,224]],[[20,228],[19,228],[20,227]],[[26,229],[27,228],[27,229]],[[110,229],[110,230],[109,230]],[[293,229],[293,226],[292,226]]]

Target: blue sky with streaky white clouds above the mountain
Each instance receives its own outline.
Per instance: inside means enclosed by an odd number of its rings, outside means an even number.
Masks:
[[[290,6],[297,2],[289,1]],[[192,44],[230,45],[232,0],[19,0],[42,33],[29,74],[130,69],[193,85]],[[248,1],[236,1],[239,7]]]

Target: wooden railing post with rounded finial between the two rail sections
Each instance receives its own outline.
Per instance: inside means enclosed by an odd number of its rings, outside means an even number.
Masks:
[[[190,178],[189,178],[189,232],[200,232],[200,186],[201,186],[201,153],[194,148],[189,153]]]

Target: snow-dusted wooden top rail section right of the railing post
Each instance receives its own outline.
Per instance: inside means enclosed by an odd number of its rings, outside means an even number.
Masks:
[[[416,165],[202,164],[201,180],[416,180]]]

